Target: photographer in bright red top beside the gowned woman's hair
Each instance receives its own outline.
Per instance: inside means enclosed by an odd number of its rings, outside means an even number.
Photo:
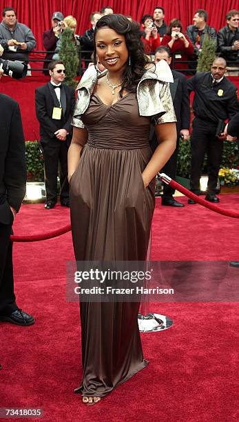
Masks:
[[[141,23],[143,26],[143,34],[141,41],[145,54],[154,54],[156,48],[160,46],[160,35],[153,22],[151,14],[144,14]]]

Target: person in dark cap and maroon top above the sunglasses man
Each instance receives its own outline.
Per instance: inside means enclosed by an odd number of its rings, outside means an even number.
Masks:
[[[56,49],[56,42],[58,40],[58,36],[61,32],[61,26],[59,26],[59,22],[63,21],[64,15],[61,12],[54,12],[52,14],[52,28],[48,31],[45,31],[43,33],[43,46],[45,47],[45,50],[47,51],[53,51]],[[54,53],[47,53],[45,54],[45,59],[49,60],[49,62],[52,60],[52,56]],[[45,75],[49,75],[48,71],[48,61],[45,61],[43,64],[43,73]]]

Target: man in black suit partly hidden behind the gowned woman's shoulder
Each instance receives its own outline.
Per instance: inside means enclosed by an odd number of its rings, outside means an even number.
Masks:
[[[155,52],[155,63],[164,59],[167,61],[168,64],[171,63],[172,57],[169,48],[166,46],[160,46],[156,49]],[[177,169],[177,157],[178,157],[178,142],[180,137],[187,141],[187,137],[189,136],[189,124],[190,124],[190,103],[189,103],[189,94],[187,92],[187,79],[186,77],[176,72],[176,70],[172,70],[172,74],[174,77],[174,83],[169,83],[170,92],[172,95],[172,100],[174,103],[174,110],[176,113],[176,128],[177,128],[177,147],[170,157],[169,161],[165,164],[164,168],[161,172],[167,174],[172,179],[176,178],[176,169]],[[158,145],[158,141],[156,140],[156,135],[152,139],[152,149],[155,149]],[[171,188],[169,185],[163,185],[163,196],[162,196],[162,205],[169,205],[172,207],[184,207],[183,203],[176,201],[174,199],[173,194],[175,190]]]

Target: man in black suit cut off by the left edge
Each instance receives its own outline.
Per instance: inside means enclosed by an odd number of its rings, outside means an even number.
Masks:
[[[3,71],[0,69],[0,79]],[[14,295],[12,223],[25,195],[25,140],[19,105],[0,94],[0,321],[34,323],[19,309]]]

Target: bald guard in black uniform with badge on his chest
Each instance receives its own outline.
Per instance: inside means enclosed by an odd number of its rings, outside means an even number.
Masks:
[[[222,57],[214,60],[211,72],[198,72],[187,81],[189,93],[195,92],[194,121],[191,133],[191,192],[200,194],[200,174],[207,152],[209,180],[207,201],[219,202],[216,197],[218,171],[223,142],[217,135],[224,131],[224,121],[238,110],[236,86],[224,74],[227,63]],[[195,203],[189,199],[188,203]]]

